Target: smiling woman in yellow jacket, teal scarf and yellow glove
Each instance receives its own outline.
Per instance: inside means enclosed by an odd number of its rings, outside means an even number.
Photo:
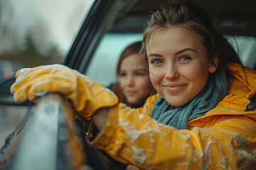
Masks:
[[[80,117],[92,118],[90,145],[124,164],[140,169],[255,169],[256,111],[245,109],[256,95],[256,72],[242,66],[205,13],[190,2],[166,3],[152,14],[143,42],[158,92],[143,108],[117,103],[111,91],[60,65],[18,72],[11,91],[16,101],[62,92]],[[69,88],[58,84],[67,81],[57,79],[63,75],[70,77]],[[80,84],[72,84],[74,79]]]

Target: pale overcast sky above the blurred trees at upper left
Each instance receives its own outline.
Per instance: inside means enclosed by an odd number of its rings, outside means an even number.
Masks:
[[[43,21],[50,39],[66,52],[94,0],[8,0],[14,8],[14,22],[22,34]]]

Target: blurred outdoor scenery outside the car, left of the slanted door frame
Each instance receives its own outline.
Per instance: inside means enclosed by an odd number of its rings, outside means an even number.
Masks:
[[[61,63],[93,0],[0,0],[0,81]],[[0,105],[0,148],[28,107]]]

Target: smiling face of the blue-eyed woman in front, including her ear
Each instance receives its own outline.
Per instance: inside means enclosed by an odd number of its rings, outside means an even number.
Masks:
[[[208,61],[202,38],[182,27],[157,30],[146,53],[154,88],[175,107],[195,98],[218,65],[217,58],[215,64]]]

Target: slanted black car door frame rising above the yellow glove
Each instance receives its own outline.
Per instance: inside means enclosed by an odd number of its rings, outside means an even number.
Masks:
[[[95,0],[63,64],[85,73],[102,36],[110,30],[122,10],[136,1]]]

